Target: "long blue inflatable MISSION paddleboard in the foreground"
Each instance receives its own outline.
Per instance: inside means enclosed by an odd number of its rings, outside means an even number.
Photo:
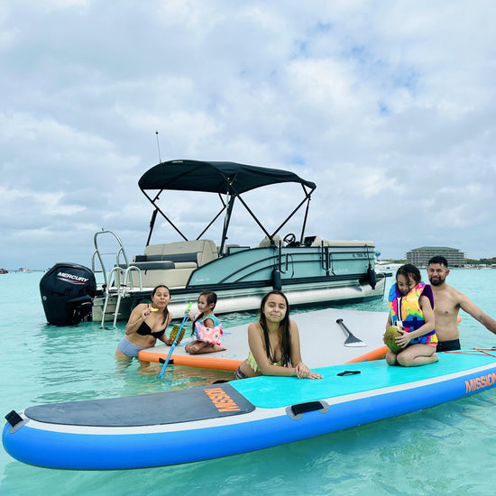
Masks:
[[[319,436],[493,388],[496,358],[442,354],[438,363],[413,369],[389,367],[381,360],[318,372],[324,379],[258,377],[32,407],[22,412],[19,424],[5,425],[3,443],[14,458],[51,468],[196,462]]]

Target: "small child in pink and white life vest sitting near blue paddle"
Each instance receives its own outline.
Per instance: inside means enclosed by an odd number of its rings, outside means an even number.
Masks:
[[[222,352],[226,348],[220,345],[222,328],[220,320],[214,315],[216,308],[217,295],[213,291],[204,291],[200,294],[197,301],[199,314],[195,317],[189,312],[189,318],[193,322],[193,331],[197,339],[191,341],[185,346],[188,354],[206,354]]]

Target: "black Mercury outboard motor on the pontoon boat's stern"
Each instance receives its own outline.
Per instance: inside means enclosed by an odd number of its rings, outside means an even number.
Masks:
[[[41,301],[49,324],[75,326],[91,320],[96,279],[77,263],[56,263],[40,280]]]

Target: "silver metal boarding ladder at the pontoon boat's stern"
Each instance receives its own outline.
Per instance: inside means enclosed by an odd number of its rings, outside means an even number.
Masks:
[[[114,236],[114,242],[117,243],[118,249],[114,253],[102,253],[98,246],[98,237],[102,234],[110,234]],[[108,235],[106,236],[108,238]],[[102,327],[104,327],[106,315],[114,315],[114,326],[117,322],[117,317],[119,317],[119,308],[121,306],[121,301],[125,298],[129,291],[134,288],[133,285],[133,272],[137,272],[138,280],[139,280],[139,289],[142,291],[142,271],[134,266],[130,265],[127,256],[125,254],[124,245],[117,234],[113,231],[106,231],[102,229],[98,231],[94,236],[95,243],[95,252],[91,257],[91,270],[94,273],[101,272],[104,278],[103,287],[106,292],[106,299],[104,303],[104,307],[102,310]],[[105,266],[105,257],[107,256],[115,256],[115,265],[110,271],[106,271]],[[121,263],[121,255],[124,258],[124,263]],[[95,259],[98,258],[98,262],[100,263],[101,270],[97,271],[95,267]],[[124,265],[124,267],[123,267]],[[111,297],[117,297],[117,301],[115,303],[115,311],[107,312],[108,308],[108,300]]]

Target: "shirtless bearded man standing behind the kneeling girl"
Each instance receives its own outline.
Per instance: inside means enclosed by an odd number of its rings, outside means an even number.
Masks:
[[[458,332],[458,312],[460,308],[478,320],[491,333],[496,334],[496,320],[482,312],[481,308],[460,291],[448,286],[445,282],[449,274],[445,257],[432,257],[427,264],[427,276],[434,292],[434,314],[436,317],[436,335],[439,343],[436,352],[447,352],[460,349],[460,333]]]

